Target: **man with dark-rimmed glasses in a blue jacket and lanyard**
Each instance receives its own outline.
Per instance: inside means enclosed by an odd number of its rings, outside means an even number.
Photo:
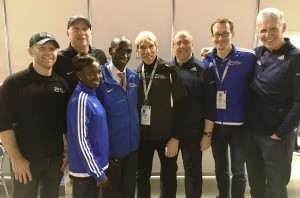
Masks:
[[[232,44],[234,35],[234,24],[230,19],[216,19],[211,24],[211,40],[215,47],[203,59],[216,81],[217,115],[211,146],[219,198],[243,198],[247,182],[243,124],[256,56],[253,50],[235,47]],[[231,192],[228,146],[232,171]]]

